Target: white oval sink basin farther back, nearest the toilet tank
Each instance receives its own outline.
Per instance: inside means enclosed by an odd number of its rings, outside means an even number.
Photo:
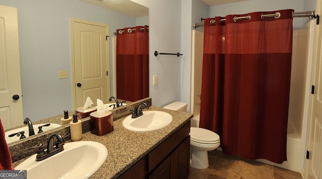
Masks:
[[[128,116],[123,121],[123,126],[131,131],[146,132],[168,126],[173,120],[173,117],[162,111],[143,111],[143,115],[133,119]]]

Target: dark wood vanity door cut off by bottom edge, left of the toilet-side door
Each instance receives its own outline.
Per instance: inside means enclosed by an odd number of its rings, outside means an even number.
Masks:
[[[164,160],[155,170],[149,175],[149,179],[160,179],[174,177],[174,154],[172,153],[166,160]]]

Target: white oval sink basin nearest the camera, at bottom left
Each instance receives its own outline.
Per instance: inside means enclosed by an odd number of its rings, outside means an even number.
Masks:
[[[27,170],[28,178],[89,178],[105,162],[106,147],[98,142],[78,141],[64,145],[64,150],[42,161],[36,154],[16,170]]]

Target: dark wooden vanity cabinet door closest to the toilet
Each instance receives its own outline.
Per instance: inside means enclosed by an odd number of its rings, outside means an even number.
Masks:
[[[175,178],[188,178],[190,169],[190,136],[174,151]]]

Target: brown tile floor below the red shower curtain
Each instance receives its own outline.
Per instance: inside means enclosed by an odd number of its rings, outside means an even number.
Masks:
[[[195,169],[190,167],[189,179],[300,179],[301,174],[255,160],[228,156],[219,150],[208,152],[209,167]]]

